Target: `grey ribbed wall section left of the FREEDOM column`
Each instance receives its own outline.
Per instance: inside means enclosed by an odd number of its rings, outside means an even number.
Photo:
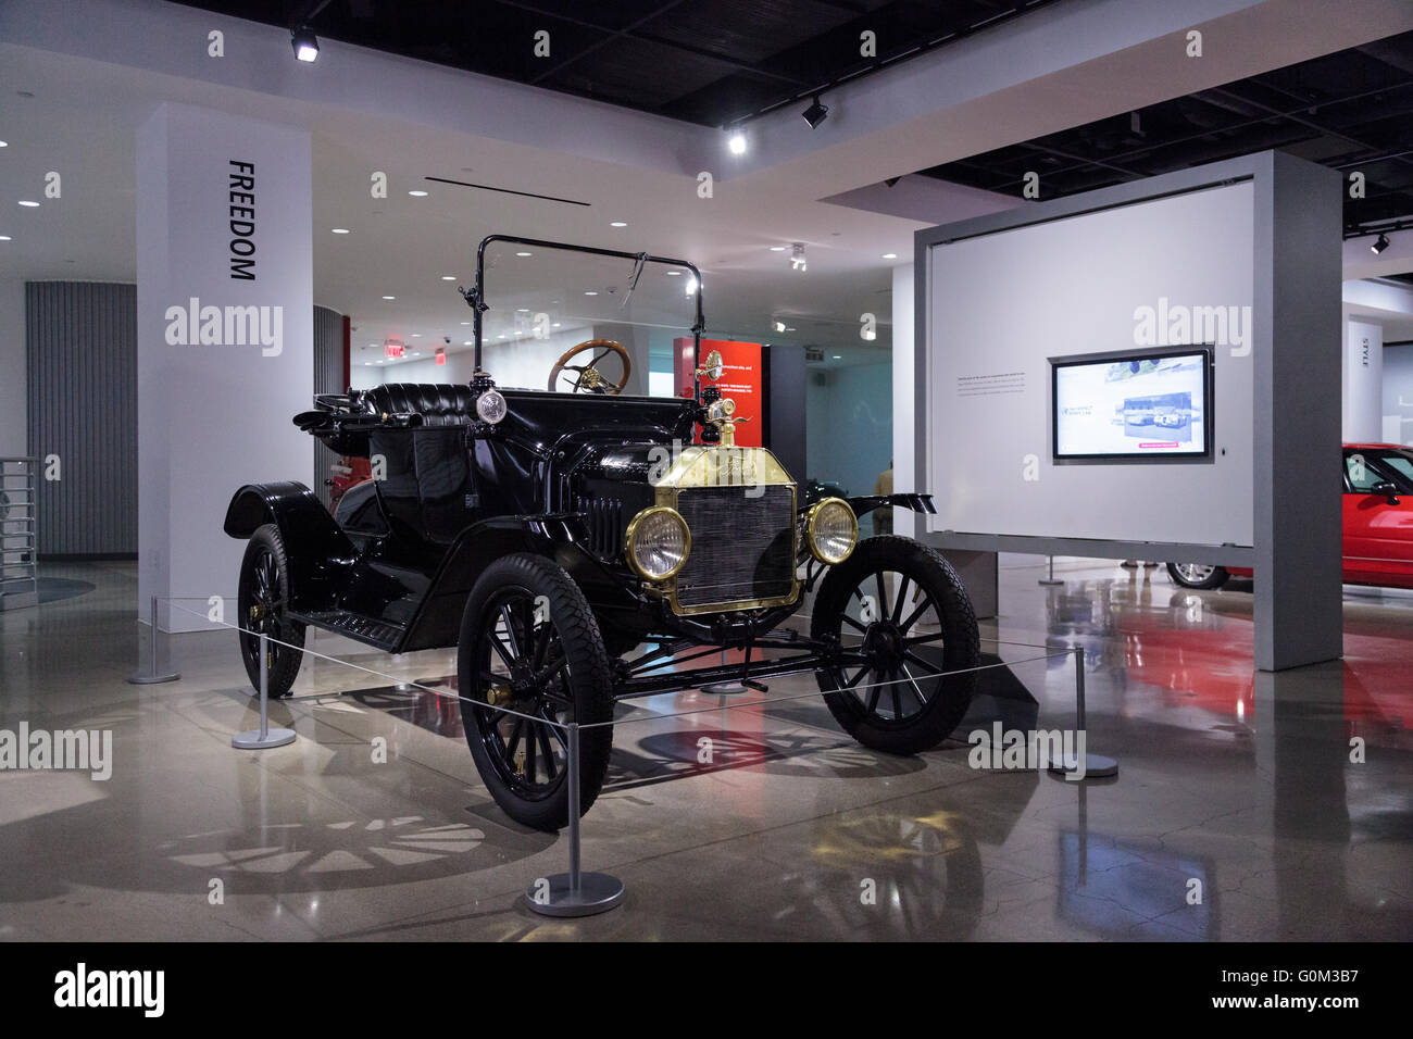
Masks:
[[[25,286],[28,451],[59,457],[40,481],[41,556],[137,554],[137,287]]]

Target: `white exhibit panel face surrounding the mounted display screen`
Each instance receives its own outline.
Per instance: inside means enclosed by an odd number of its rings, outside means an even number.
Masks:
[[[1164,298],[1174,311],[1251,314],[1253,194],[1246,181],[933,249],[923,423],[928,444],[945,447],[930,459],[930,530],[1252,544],[1249,345],[1217,345],[1210,464],[1054,464],[1047,358],[1150,346],[1137,342],[1135,315]],[[1174,344],[1204,341],[1177,331]],[[962,380],[998,373],[1023,382],[964,390],[975,383]]]

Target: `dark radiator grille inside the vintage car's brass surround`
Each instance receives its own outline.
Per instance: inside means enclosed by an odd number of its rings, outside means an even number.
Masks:
[[[677,510],[692,532],[677,574],[684,608],[788,598],[794,592],[794,488],[770,485],[759,498],[743,488],[684,488]]]

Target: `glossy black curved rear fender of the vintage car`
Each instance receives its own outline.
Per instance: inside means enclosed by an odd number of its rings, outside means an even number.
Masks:
[[[249,539],[274,523],[290,563],[290,608],[300,614],[332,609],[357,558],[353,543],[304,483],[246,483],[226,507],[225,532]]]

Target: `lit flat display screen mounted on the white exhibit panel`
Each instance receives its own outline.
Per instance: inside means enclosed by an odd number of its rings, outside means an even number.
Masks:
[[[1211,353],[1051,360],[1054,457],[1211,454]]]

